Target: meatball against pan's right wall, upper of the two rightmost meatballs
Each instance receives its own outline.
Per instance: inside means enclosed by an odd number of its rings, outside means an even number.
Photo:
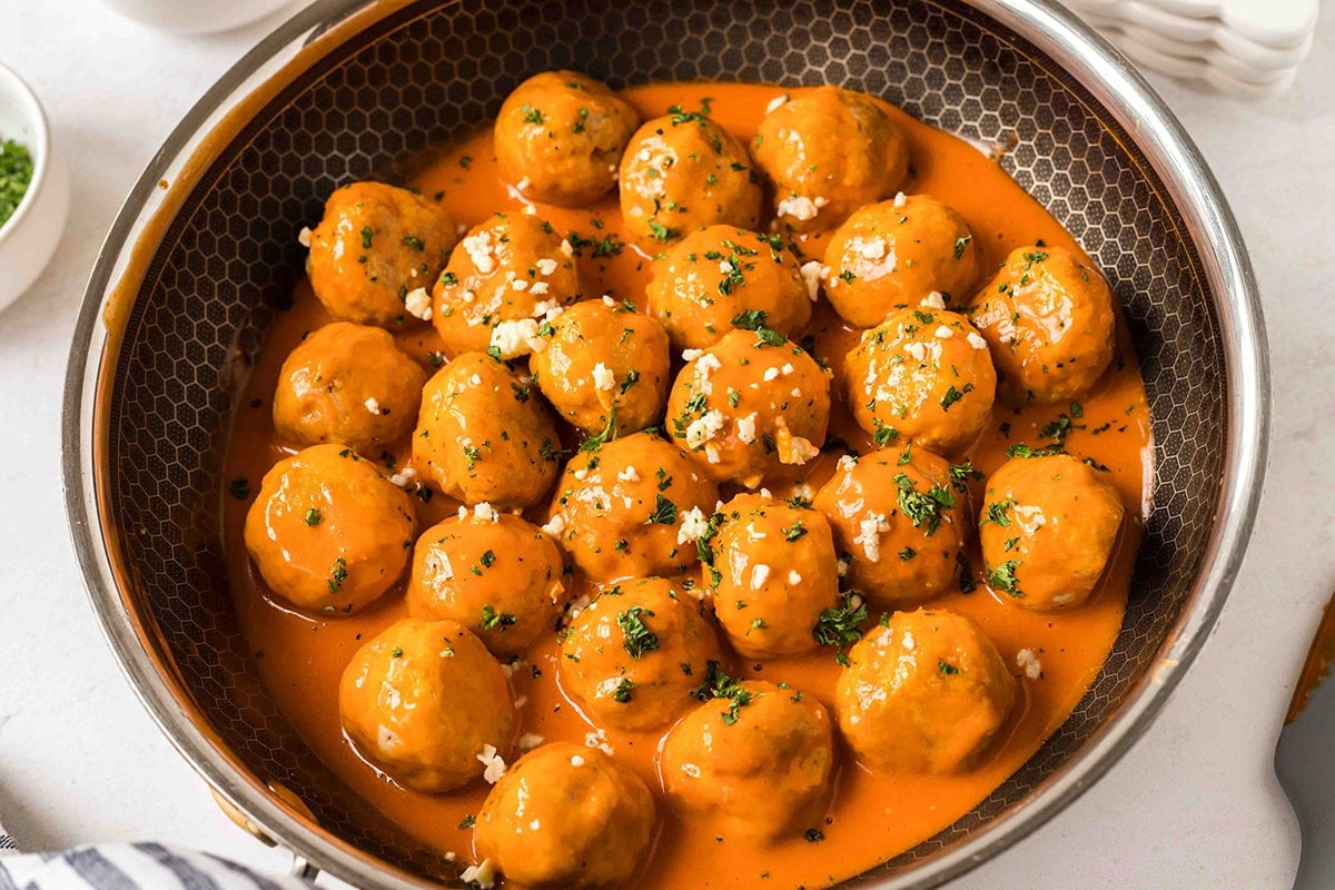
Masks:
[[[1020,247],[969,308],[992,347],[1001,396],[1013,404],[1068,402],[1112,363],[1112,291],[1060,247]]]

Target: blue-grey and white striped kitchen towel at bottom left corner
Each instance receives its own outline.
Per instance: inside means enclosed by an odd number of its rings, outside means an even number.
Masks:
[[[160,843],[99,843],[17,853],[0,826],[0,890],[312,890],[287,875]]]

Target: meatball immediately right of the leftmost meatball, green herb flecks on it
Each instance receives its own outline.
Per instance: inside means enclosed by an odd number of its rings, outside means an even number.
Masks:
[[[459,512],[418,539],[409,614],[466,624],[498,655],[543,639],[565,606],[561,548],[518,516]]]

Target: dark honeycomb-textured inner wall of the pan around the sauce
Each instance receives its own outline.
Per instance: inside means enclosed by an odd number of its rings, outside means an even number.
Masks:
[[[302,274],[294,234],[336,185],[392,176],[493,117],[522,79],[577,68],[646,80],[836,83],[943,129],[1011,144],[1003,164],[1113,282],[1149,388],[1153,511],[1127,622],[1071,719],[1004,786],[885,866],[902,870],[1031,795],[1124,701],[1187,596],[1224,462],[1223,344],[1197,259],[1161,183],[1107,112],[1032,45],[959,4],[537,0],[409,5],[262,108],[170,226],[138,295],[109,399],[111,522],[135,608],[212,733],[319,823],[422,874],[427,854],[330,774],[275,710],[231,614],[218,531],[234,399]],[[878,870],[853,885],[884,877]],[[852,885],[850,885],[852,886]]]

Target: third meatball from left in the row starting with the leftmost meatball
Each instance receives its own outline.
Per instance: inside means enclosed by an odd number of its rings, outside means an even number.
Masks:
[[[670,575],[697,560],[682,524],[713,510],[718,488],[681,448],[637,432],[566,464],[545,526],[594,580]]]

